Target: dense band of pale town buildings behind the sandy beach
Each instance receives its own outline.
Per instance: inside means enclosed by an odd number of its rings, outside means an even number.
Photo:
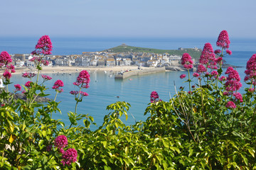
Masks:
[[[33,67],[32,55],[12,55],[16,67]],[[82,52],[82,55],[49,55],[50,66],[114,67],[136,64],[139,67],[178,66],[181,56],[149,52]]]

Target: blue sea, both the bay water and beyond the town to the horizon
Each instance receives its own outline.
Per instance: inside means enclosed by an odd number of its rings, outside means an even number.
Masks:
[[[9,54],[28,54],[34,50],[39,38],[15,38],[0,37],[0,52],[7,51]],[[206,42],[215,46],[217,38],[51,38],[53,42],[53,55],[74,55],[82,54],[82,52],[95,52],[106,50],[117,45],[151,47],[164,50],[176,50],[178,47],[192,48],[198,47],[203,49]],[[233,54],[224,57],[228,64],[233,64],[238,70],[241,81],[245,77],[245,67],[247,60],[256,53],[256,39],[230,38],[230,49]],[[91,129],[95,130],[102,125],[103,118],[111,111],[107,111],[106,107],[116,101],[126,101],[131,107],[128,111],[128,120],[122,118],[126,125],[132,125],[136,121],[146,120],[148,115],[144,115],[144,111],[150,102],[151,91],[157,91],[159,97],[163,101],[169,101],[175,93],[175,87],[178,90],[180,86],[188,89],[188,84],[180,79],[181,74],[187,72],[161,72],[156,74],[146,74],[142,76],[129,77],[129,79],[116,80],[112,72],[90,72],[90,88],[85,89],[89,94],[78,104],[78,114],[91,115],[97,126],[92,125]],[[58,79],[63,80],[63,93],[58,94],[56,101],[59,103],[61,113],[53,113],[53,118],[62,120],[65,125],[70,125],[68,120],[68,112],[75,111],[75,98],[69,92],[79,90],[73,85],[78,73],[73,74],[48,74],[53,77],[51,81],[46,82],[48,89],[46,93],[50,94],[48,98],[55,97],[55,91],[51,89],[54,82]],[[13,84],[9,86],[14,91],[14,84],[25,84],[28,79],[21,75],[13,75],[11,77]],[[42,79],[41,79],[42,81]],[[196,84],[196,79],[193,79]],[[247,84],[242,81],[242,88]],[[78,125],[83,125],[82,121]]]

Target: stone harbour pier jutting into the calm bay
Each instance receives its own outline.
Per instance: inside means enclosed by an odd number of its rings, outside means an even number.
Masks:
[[[119,73],[114,75],[114,79],[126,79],[128,77],[142,75],[142,74],[151,74],[156,72],[165,72],[165,67],[152,68],[152,69],[134,69],[129,72]]]

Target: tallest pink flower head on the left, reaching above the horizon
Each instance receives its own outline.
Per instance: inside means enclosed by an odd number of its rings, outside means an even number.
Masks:
[[[36,50],[31,52],[32,55],[51,55],[51,51],[53,50],[52,42],[48,35],[43,35],[36,45]]]

